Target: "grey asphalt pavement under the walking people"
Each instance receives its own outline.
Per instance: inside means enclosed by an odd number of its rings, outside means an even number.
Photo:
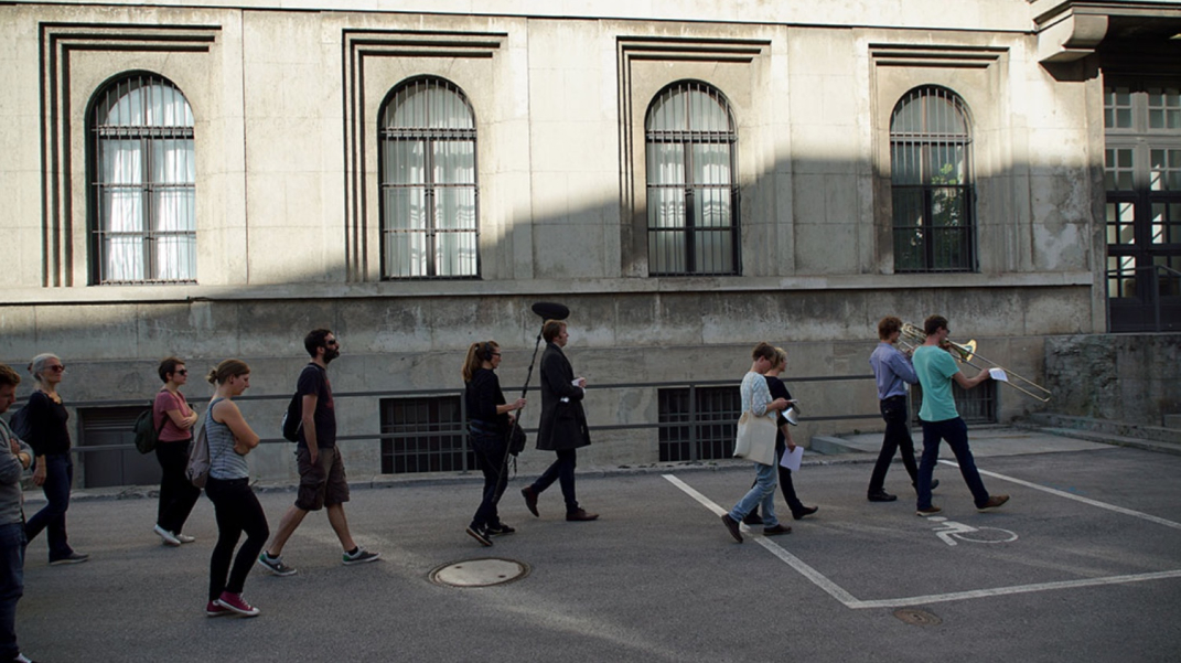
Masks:
[[[252,572],[249,619],[204,616],[208,500],[185,527],[197,541],[171,548],[143,492],[79,493],[68,531],[91,561],[51,567],[44,539],[30,545],[18,636],[48,663],[1181,658],[1181,456],[1013,429],[972,446],[990,492],[1012,495],[994,513],[977,513],[948,462],[935,520],[915,516],[900,463],[886,485],[899,501],[870,503],[872,453],[809,455],[796,488],[820,512],[794,521],[779,498],[794,532],[740,545],[718,518],[752,480],[739,461],[580,468],[594,522],[566,522],[557,486],[531,516],[518,493],[531,476],[517,477],[501,509],[517,532],[490,548],[464,534],[477,477],[353,477],[353,534],[381,559],[342,566],[312,514],[285,551],[296,576]],[[272,527],[293,499],[260,493]],[[431,579],[482,558],[524,572]]]

